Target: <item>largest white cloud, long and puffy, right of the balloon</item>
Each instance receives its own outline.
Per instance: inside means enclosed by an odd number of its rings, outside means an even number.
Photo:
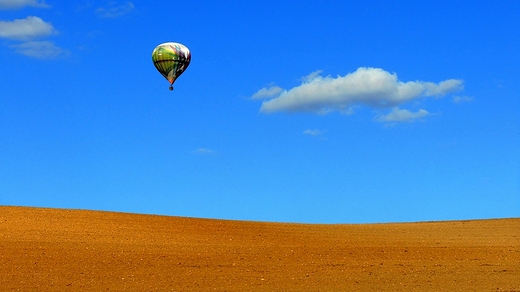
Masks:
[[[402,82],[397,79],[396,74],[379,68],[361,67],[337,78],[321,77],[317,72],[319,71],[307,76],[307,81],[300,86],[283,90],[278,96],[263,101],[260,111],[351,113],[353,106],[389,108],[419,97],[442,96],[463,89],[462,80],[449,79],[440,83]]]

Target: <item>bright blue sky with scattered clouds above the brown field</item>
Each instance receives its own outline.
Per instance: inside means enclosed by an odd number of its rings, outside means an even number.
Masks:
[[[518,1],[0,0],[0,205],[520,217]],[[175,90],[163,42],[190,48]]]

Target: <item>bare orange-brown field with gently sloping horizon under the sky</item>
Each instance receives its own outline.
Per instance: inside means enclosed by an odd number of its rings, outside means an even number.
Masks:
[[[520,291],[520,219],[309,225],[0,207],[1,291]]]

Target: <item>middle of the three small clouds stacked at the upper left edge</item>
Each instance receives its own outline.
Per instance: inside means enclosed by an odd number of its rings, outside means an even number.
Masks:
[[[0,21],[0,37],[12,40],[32,40],[57,33],[52,24],[37,16]]]

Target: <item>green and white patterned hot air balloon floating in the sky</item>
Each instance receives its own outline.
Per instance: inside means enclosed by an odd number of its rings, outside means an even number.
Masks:
[[[183,44],[163,43],[153,50],[152,61],[157,71],[170,82],[170,90],[173,90],[173,82],[190,64],[191,53]]]

